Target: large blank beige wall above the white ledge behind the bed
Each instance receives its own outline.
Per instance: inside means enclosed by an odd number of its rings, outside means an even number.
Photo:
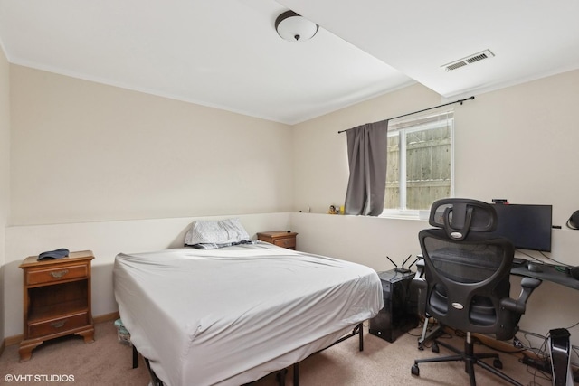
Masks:
[[[291,127],[17,65],[13,225],[291,209]]]

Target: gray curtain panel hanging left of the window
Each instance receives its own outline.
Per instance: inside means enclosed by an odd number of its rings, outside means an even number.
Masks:
[[[384,211],[388,120],[367,123],[346,132],[350,178],[346,214],[377,216]]]

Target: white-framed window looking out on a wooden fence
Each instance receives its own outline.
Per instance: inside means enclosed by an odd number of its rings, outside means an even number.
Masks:
[[[384,215],[418,215],[454,191],[452,111],[388,126]]]

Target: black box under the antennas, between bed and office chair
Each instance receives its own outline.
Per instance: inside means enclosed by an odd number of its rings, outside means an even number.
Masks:
[[[370,334],[393,343],[400,335],[418,325],[417,296],[410,284],[413,272],[392,269],[379,272],[384,308],[370,319]]]

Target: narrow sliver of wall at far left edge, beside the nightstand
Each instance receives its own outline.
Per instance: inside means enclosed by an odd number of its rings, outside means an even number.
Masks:
[[[5,227],[10,213],[10,80],[0,44],[0,344],[5,337]]]

